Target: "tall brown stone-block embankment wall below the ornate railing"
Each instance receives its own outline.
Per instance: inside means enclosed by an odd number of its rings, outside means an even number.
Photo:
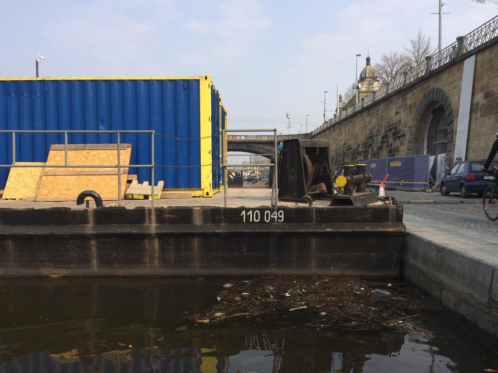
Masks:
[[[498,38],[318,133],[314,138],[330,142],[332,167],[367,159],[419,155],[416,144],[427,127],[422,113],[435,101],[445,108],[446,151],[453,159],[463,65],[472,54],[476,54],[476,66],[466,158],[487,157],[498,130]]]

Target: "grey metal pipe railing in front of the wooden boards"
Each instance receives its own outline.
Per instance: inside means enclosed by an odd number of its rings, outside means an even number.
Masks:
[[[144,168],[148,167],[151,169],[151,207],[154,207],[154,131],[153,130],[142,130],[142,131],[34,131],[34,130],[0,130],[0,133],[10,133],[12,134],[12,164],[11,165],[0,165],[0,167],[12,168],[12,167],[32,167],[32,168],[47,168],[47,167],[56,167],[56,168],[117,168],[118,174],[118,205],[121,206],[121,169],[122,168]],[[56,133],[56,134],[64,134],[64,165],[17,165],[16,164],[16,134],[18,133]],[[114,133],[117,138],[117,164],[116,165],[69,165],[68,164],[68,134],[71,133]],[[149,133],[151,134],[151,164],[150,165],[122,165],[120,150],[121,150],[121,142],[120,142],[120,134],[122,133]]]

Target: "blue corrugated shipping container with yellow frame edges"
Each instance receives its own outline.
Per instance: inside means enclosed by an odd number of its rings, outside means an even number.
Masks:
[[[164,180],[165,189],[197,196],[222,188],[219,131],[225,118],[209,75],[0,79],[0,130],[154,130],[155,183]],[[116,143],[117,136],[68,134],[68,142]],[[120,142],[132,145],[130,164],[151,163],[150,134],[121,134]],[[55,143],[64,143],[64,135],[17,134],[16,161],[45,162]],[[0,134],[0,144],[0,164],[11,164],[12,136]],[[0,188],[7,172],[0,170]],[[152,181],[149,168],[130,173],[139,182]]]

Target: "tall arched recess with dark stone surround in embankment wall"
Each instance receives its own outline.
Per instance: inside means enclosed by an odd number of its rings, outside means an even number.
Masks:
[[[407,155],[428,154],[430,180],[437,187],[450,167],[453,151],[453,106],[446,91],[432,87],[419,104],[408,138]]]

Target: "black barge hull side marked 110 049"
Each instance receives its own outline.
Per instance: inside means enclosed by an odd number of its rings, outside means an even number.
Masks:
[[[0,276],[399,276],[401,205],[0,209]]]

